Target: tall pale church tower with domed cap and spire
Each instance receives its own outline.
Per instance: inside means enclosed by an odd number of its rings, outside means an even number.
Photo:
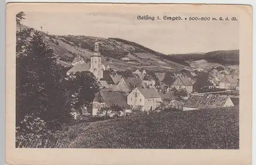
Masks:
[[[93,55],[91,56],[91,67],[90,72],[93,73],[93,75],[98,78],[103,78],[103,69],[101,67],[101,55],[99,52],[99,42],[95,42],[94,44],[94,51]]]

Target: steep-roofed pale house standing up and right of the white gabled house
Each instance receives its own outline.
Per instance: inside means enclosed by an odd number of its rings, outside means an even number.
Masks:
[[[194,82],[189,77],[178,76],[170,88],[175,87],[176,89],[185,88],[188,93],[193,92],[193,84]]]

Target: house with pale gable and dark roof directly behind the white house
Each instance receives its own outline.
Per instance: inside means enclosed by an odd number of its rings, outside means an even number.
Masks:
[[[137,86],[144,87],[145,84],[140,78],[122,78],[117,84],[117,90],[130,93]]]

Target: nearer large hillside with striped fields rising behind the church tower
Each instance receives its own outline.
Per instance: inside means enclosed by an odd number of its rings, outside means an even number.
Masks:
[[[21,26],[28,29],[29,27]],[[17,28],[18,29],[18,28]],[[33,29],[33,31],[36,31]],[[41,32],[44,33],[44,32]],[[109,64],[116,70],[143,68],[155,71],[178,71],[184,65],[168,60],[166,55],[146,48],[138,43],[120,38],[101,38],[93,36],[49,35],[45,41],[63,66],[71,66],[72,60],[81,55],[84,61],[90,61],[95,41],[99,41],[102,63]],[[129,58],[124,61],[122,58]]]

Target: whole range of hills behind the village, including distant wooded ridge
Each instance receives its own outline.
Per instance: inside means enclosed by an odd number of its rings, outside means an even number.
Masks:
[[[29,27],[22,25],[20,28]],[[78,55],[89,62],[96,40],[99,41],[102,63],[109,64],[115,70],[143,68],[172,72],[190,67],[212,67],[216,64],[234,67],[239,65],[239,50],[165,55],[120,38],[44,34],[47,45],[57,57],[57,63],[67,67],[72,66],[71,62]],[[124,61],[122,58],[130,60]]]

